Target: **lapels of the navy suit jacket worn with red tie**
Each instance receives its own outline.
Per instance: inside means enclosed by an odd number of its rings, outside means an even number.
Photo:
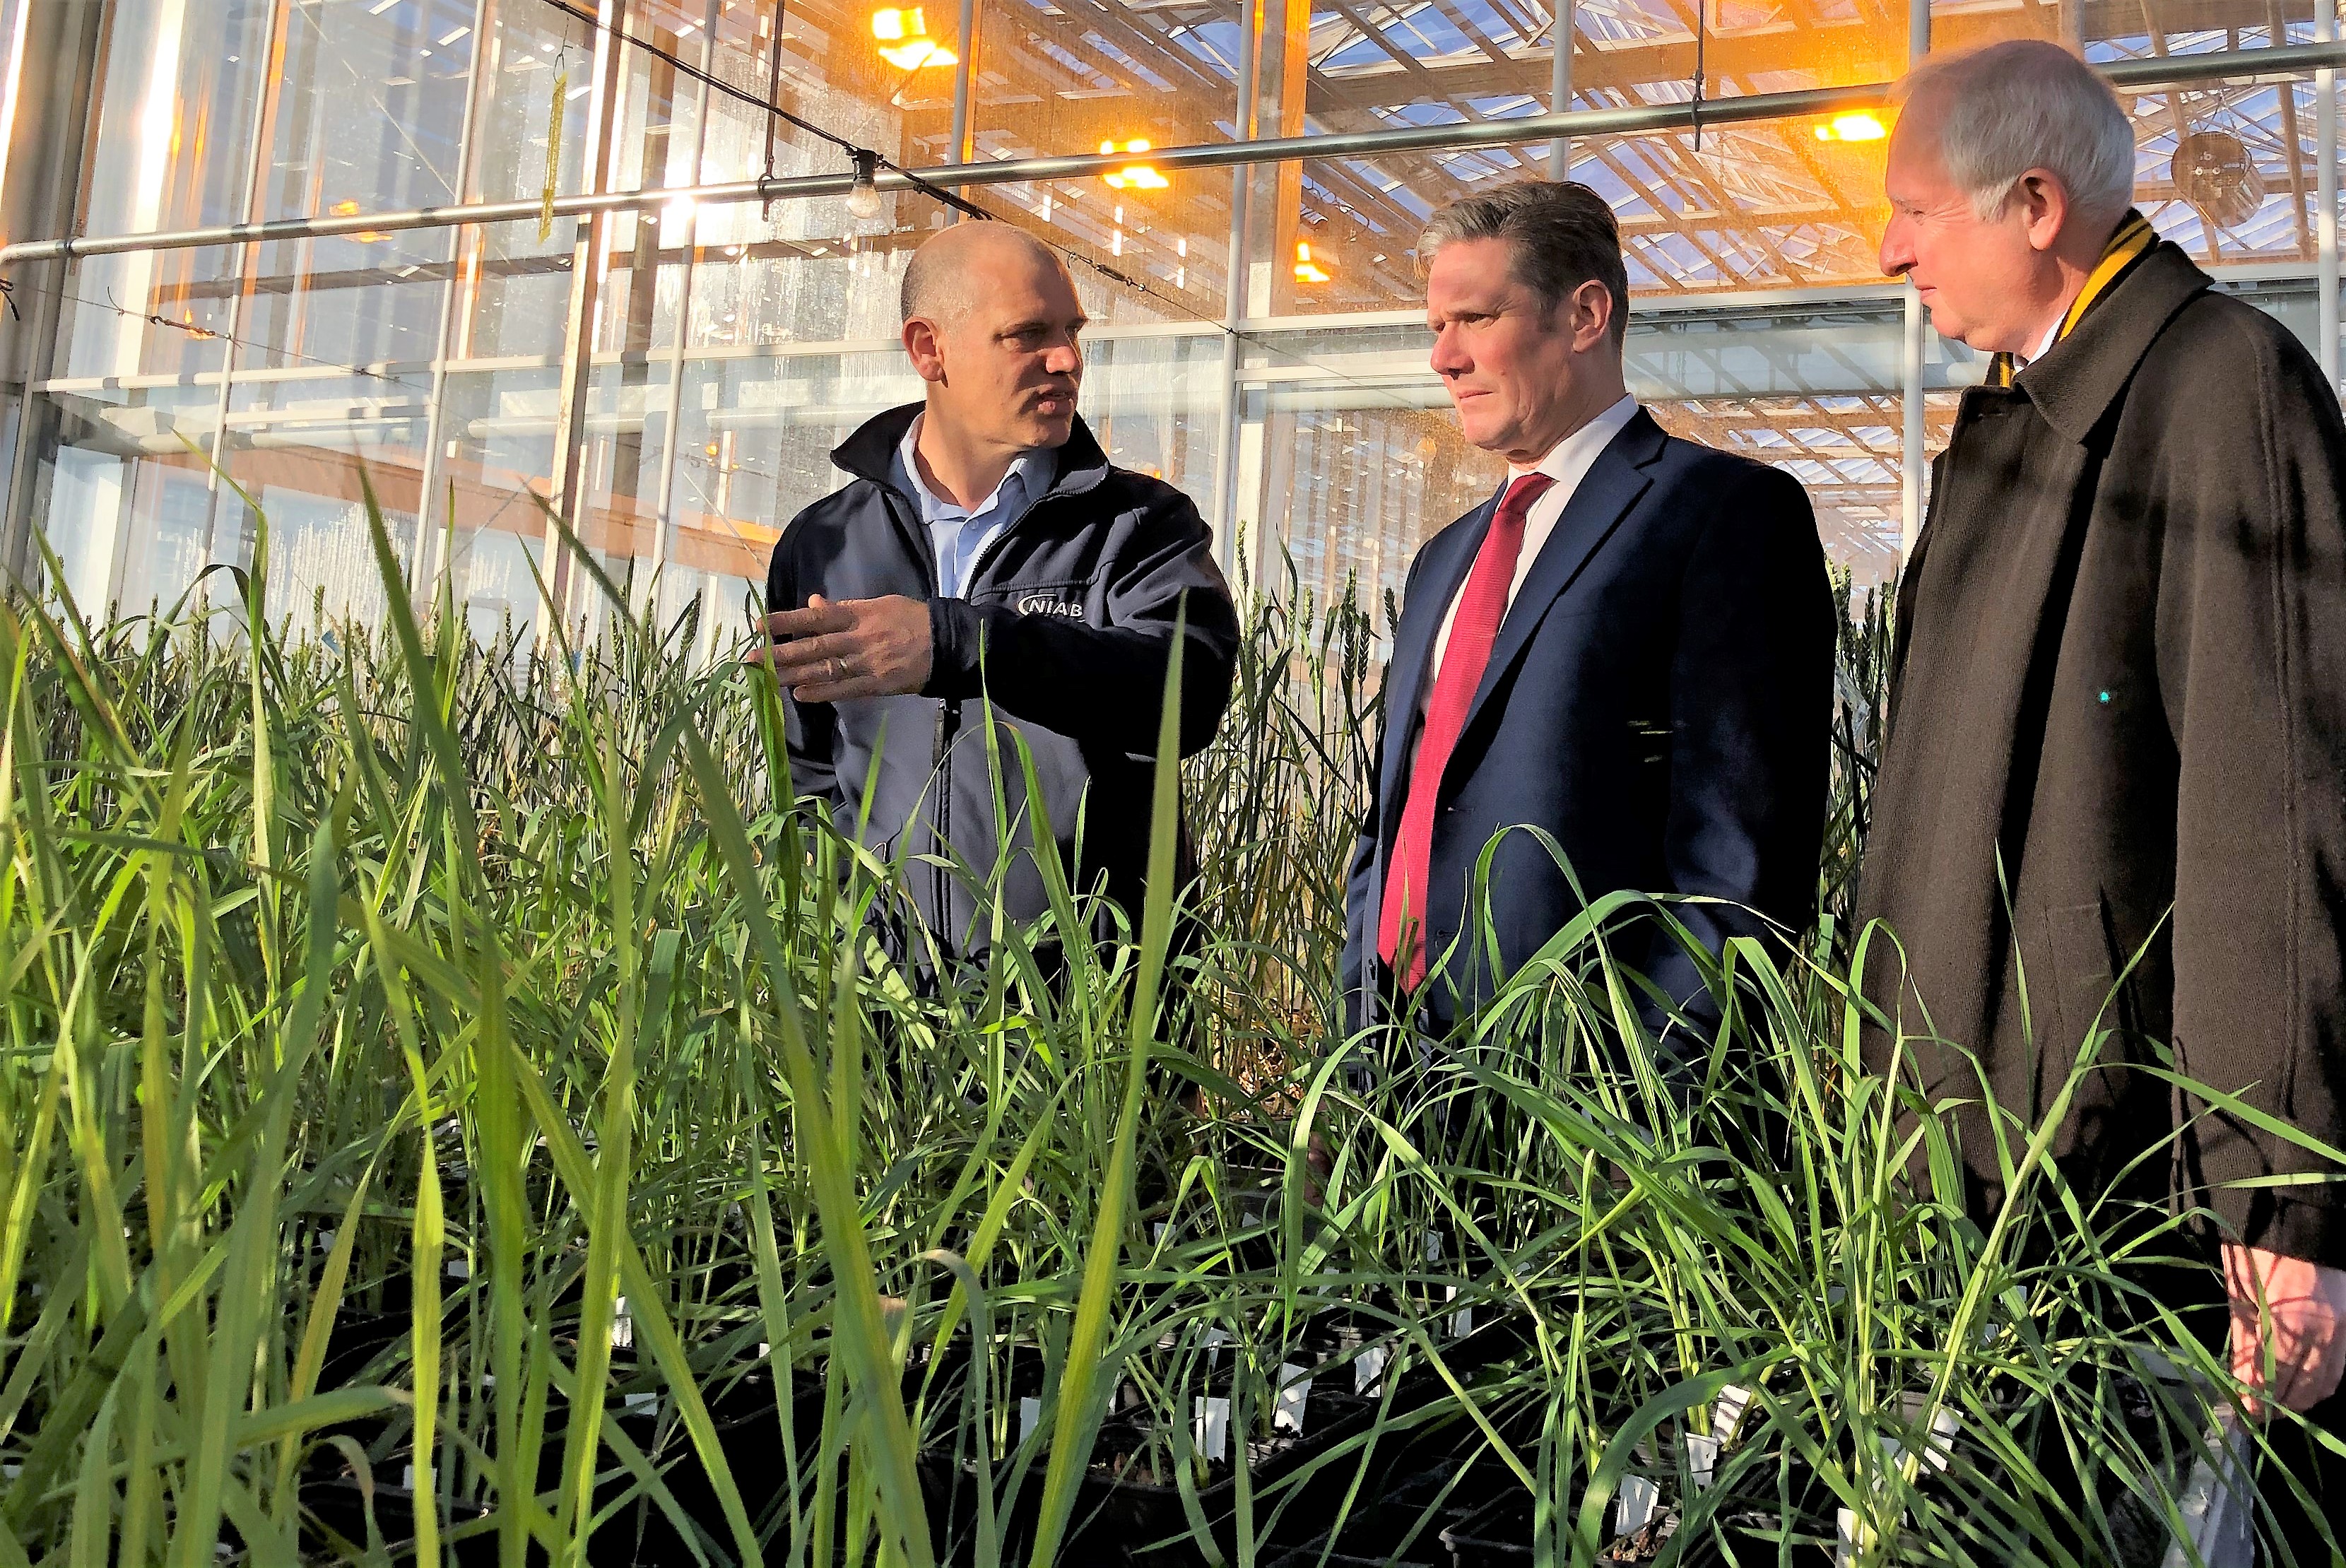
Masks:
[[[1499,622],[1499,636],[1490,646],[1490,662],[1483,667],[1483,681],[1466,707],[1466,725],[1459,735],[1473,728],[1492,690],[1532,641],[1532,631],[1539,629],[1548,606],[1572,587],[1588,556],[1595,554],[1598,545],[1612,535],[1614,526],[1645,495],[1652,484],[1645,469],[1661,458],[1668,441],[1670,437],[1654,423],[1654,415],[1638,408],[1628,425],[1621,427],[1621,434],[1598,453],[1579,488],[1572,491],[1572,500],[1565,502],[1562,516],[1555,519],[1555,528],[1548,533],[1548,542],[1541,545],[1539,559],[1532,561],[1532,570],[1525,573],[1523,587],[1506,608],[1506,617]],[[1403,606],[1401,627],[1394,631],[1391,685],[1386,688],[1384,709],[1382,777],[1386,779],[1403,779],[1401,765],[1408,758],[1410,737],[1417,732],[1417,709],[1429,664],[1433,662],[1433,634],[1440,629],[1450,601],[1457,599],[1459,587],[1466,582],[1466,573],[1473,570],[1473,559],[1483,549],[1483,535],[1490,533],[1490,519],[1497,514],[1499,495],[1504,493],[1501,486],[1490,500],[1450,528],[1443,528],[1426,545],[1422,582],[1412,589],[1410,603]],[[1415,615],[1410,613],[1412,608],[1417,610]],[[1452,753],[1455,758],[1457,753]],[[1384,791],[1384,817],[1389,822],[1401,822],[1403,793],[1405,786]]]

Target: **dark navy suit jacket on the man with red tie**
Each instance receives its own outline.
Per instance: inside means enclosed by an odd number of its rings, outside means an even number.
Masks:
[[[1344,995],[1384,1012],[1377,958],[1386,857],[1431,683],[1433,636],[1466,582],[1497,495],[1433,535],[1403,589],[1368,822],[1351,861]],[[1433,817],[1429,953],[1480,927],[1429,988],[1436,1019],[1485,1000],[1605,892],[1731,899],[1792,930],[1816,911],[1832,721],[1832,589],[1809,495],[1790,474],[1663,434],[1638,411],[1598,455],[1499,624]],[[1675,908],[1713,951],[1764,930],[1743,908]],[[1616,955],[1677,1000],[1694,962],[1645,927]],[[1706,1009],[1708,1012],[1708,1009]]]

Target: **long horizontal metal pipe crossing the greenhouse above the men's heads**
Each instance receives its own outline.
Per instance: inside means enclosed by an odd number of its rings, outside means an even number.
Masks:
[[[2097,66],[2114,87],[2163,87],[2208,80],[2294,80],[2311,70],[2346,66],[2346,45],[2290,45],[2285,49],[2231,49],[2224,54],[2170,54]],[[1767,92],[1743,99],[1706,99],[1703,124],[1743,124],[1752,120],[1797,120],[1844,108],[1879,106],[1889,82],[1860,87],[1809,87],[1802,92]],[[1520,120],[1462,120],[1457,124],[1415,124],[1384,131],[1349,131],[1342,136],[1276,136],[1269,141],[1208,141],[1187,148],[1161,148],[1150,162],[1161,171],[1229,169],[1239,164],[1279,164],[1304,157],[1375,157],[1379,153],[1422,153],[1429,148],[1508,148],[1558,136],[1635,136],[1682,131],[1694,124],[1684,103],[1638,103],[1628,108],[1577,108],[1565,115],[1525,115]],[[880,171],[882,190],[917,190],[922,183],[943,188],[1023,185],[1030,181],[1077,181],[1107,174],[1131,162],[1128,155],[1077,153],[1063,157],[1021,157],[1011,162],[941,164],[899,174]],[[554,216],[579,218],[598,211],[643,211],[680,197],[699,204],[795,202],[847,195],[852,174],[802,174],[786,181],[730,181],[659,190],[612,190],[554,197]],[[422,207],[415,211],[352,214],[347,218],[282,218],[274,223],[223,223],[216,228],[157,230],[148,235],[101,235],[96,239],[26,239],[0,246],[0,268],[66,256],[117,256],[124,251],[183,251],[204,244],[242,239],[303,239],[312,235],[387,235],[411,228],[453,228],[457,223],[516,223],[542,211],[537,200],[479,202],[469,207]]]

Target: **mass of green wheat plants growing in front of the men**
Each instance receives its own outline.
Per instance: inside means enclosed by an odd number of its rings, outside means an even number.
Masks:
[[[1222,737],[1159,744],[1194,866],[1159,831],[1117,911],[1004,836],[948,873],[1049,908],[948,962],[692,615],[577,552],[598,636],[481,643],[368,516],[378,627],[267,624],[265,566],[0,606],[0,1566],[1436,1561],[1492,1507],[1593,1563],[1640,1486],[1656,1561],[2182,1521],[2222,1366],[2133,1284],[2182,1221],[2006,1120],[1980,1228],[1952,1108],[1858,1059],[1879,610],[1816,930],[1699,953],[1659,1049],[1616,951],[1684,927],[1598,899],[1417,1040],[1333,998],[1354,594],[1248,584]]]

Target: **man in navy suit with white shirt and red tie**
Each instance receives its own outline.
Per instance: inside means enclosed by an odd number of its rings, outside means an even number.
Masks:
[[[1433,369],[1508,481],[1410,563],[1347,1014],[1443,1028],[1616,890],[1724,899],[1677,906],[1713,948],[1806,925],[1835,641],[1806,493],[1628,397],[1621,235],[1586,185],[1452,202],[1417,254]],[[1471,892],[1497,833],[1494,974]],[[1614,951],[1699,1009],[1696,965],[1652,922]]]

